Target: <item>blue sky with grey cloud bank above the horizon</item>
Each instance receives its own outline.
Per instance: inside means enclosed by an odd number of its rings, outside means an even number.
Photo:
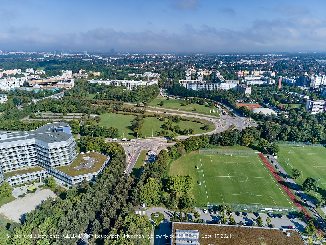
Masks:
[[[324,0],[0,0],[0,50],[326,51]]]

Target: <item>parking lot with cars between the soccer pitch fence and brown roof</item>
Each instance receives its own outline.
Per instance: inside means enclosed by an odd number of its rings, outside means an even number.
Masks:
[[[255,224],[257,224],[256,219],[257,217],[253,214],[253,213],[247,213],[248,216],[244,216],[243,213],[240,212],[240,216],[237,216],[235,214],[235,212],[233,213],[233,217],[234,220],[239,223],[239,222],[249,222],[250,224],[252,224],[253,222],[255,222]],[[227,218],[229,217],[229,215],[227,213],[225,213],[225,215],[227,216]],[[263,219],[263,224],[264,226],[267,226],[266,223],[266,218],[268,217],[267,214],[259,214],[259,216]],[[282,215],[283,219],[280,218],[270,218],[271,219],[271,225],[274,224],[275,228],[284,228],[284,226],[293,226],[296,229],[298,229],[299,231],[304,232],[304,227],[306,226],[306,224],[304,223],[304,221],[300,221],[298,218],[296,220],[290,220],[285,214]],[[218,214],[210,214],[210,211],[207,210],[207,213],[205,214],[202,210],[201,210],[201,214],[200,214],[200,219],[205,219],[206,222],[210,222],[210,221],[219,221],[221,220],[221,216],[220,213],[218,212]]]

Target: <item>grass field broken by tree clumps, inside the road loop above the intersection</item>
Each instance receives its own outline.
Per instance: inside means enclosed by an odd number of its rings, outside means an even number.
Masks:
[[[119,130],[119,138],[123,138],[123,133],[126,139],[134,139],[133,132],[131,130],[131,123],[134,120],[135,116],[129,116],[129,115],[121,115],[121,114],[112,114],[112,113],[106,113],[100,116],[101,122],[98,124],[100,126],[107,126],[109,127],[116,127]],[[186,118],[186,117],[184,117]],[[154,117],[147,117],[144,118],[145,123],[143,124],[143,128],[141,129],[142,137],[152,137],[152,129],[153,129],[153,135],[154,137],[158,136],[159,131],[161,130],[161,126],[165,123],[157,118]],[[206,124],[210,125],[210,130],[212,131],[215,129],[215,124],[209,120],[201,120],[197,119],[199,121],[202,121]],[[206,131],[203,129],[204,124],[201,123],[194,123],[194,122],[185,122],[180,121],[180,123],[173,123],[173,126],[179,124],[180,128],[184,130],[184,128],[192,128],[195,131],[195,134],[201,134],[205,133]],[[171,135],[171,131],[169,131],[169,135]]]

